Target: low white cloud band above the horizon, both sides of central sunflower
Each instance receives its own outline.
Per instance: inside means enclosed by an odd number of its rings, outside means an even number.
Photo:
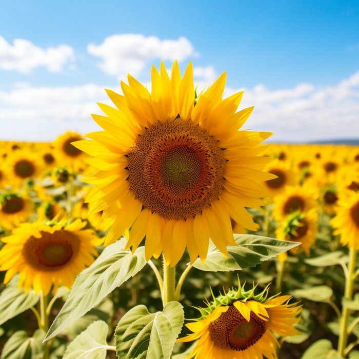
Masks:
[[[121,93],[119,87],[111,89]],[[225,96],[239,90],[243,89],[226,88]],[[240,109],[255,106],[244,128],[274,132],[273,141],[359,136],[359,71],[336,86],[299,84],[271,91],[257,85],[244,90]],[[65,130],[96,131],[98,126],[90,116],[101,113],[96,102],[110,104],[104,86],[31,87],[16,83],[11,91],[0,91],[0,139],[52,141]]]

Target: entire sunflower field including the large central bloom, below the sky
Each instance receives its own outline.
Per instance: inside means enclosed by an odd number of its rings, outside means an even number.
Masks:
[[[0,142],[0,358],[359,359],[359,148],[151,76],[103,131]]]

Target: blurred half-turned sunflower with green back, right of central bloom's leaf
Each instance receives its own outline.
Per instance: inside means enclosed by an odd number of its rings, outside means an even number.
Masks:
[[[315,234],[318,232],[318,213],[316,208],[310,209],[307,213],[300,211],[288,214],[284,221],[275,230],[276,237],[282,241],[301,242],[299,247],[290,251],[294,254],[301,249],[306,256],[310,255],[310,248],[316,241]],[[286,258],[286,253],[282,257]]]

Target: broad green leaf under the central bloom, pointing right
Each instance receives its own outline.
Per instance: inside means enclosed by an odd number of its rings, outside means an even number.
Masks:
[[[234,236],[238,247],[228,246],[228,258],[217,248],[211,246],[204,263],[198,258],[193,267],[207,272],[227,272],[254,267],[261,262],[268,261],[278,254],[294,248],[300,243],[278,241],[274,238],[262,237],[252,234]]]

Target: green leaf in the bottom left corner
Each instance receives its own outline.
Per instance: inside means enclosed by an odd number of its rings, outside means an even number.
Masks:
[[[12,334],[4,345],[1,359],[41,359],[45,350],[45,332],[38,329],[32,338],[25,330]]]

